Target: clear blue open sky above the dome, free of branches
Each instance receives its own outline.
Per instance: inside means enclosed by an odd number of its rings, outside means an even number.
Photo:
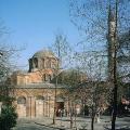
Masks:
[[[50,47],[58,29],[72,44],[79,40],[69,17],[69,0],[0,0],[0,20],[10,30],[8,42],[25,48],[17,61],[21,66],[28,65],[35,52]]]

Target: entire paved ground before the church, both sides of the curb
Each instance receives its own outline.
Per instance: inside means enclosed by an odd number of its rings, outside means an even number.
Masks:
[[[76,122],[74,119],[73,130],[79,130],[86,127],[87,130],[90,130],[91,119],[89,117],[77,117]],[[130,130],[130,117],[117,118],[116,122],[117,129],[120,127],[129,127]],[[101,122],[94,123],[95,130],[105,130],[105,128],[110,127],[110,117],[103,116],[101,117]],[[17,120],[17,126],[13,130],[70,130],[70,119],[69,117],[56,118],[56,125],[52,125],[52,118],[21,118]]]

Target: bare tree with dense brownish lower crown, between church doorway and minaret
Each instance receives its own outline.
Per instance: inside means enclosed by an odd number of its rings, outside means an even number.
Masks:
[[[81,61],[80,68],[87,73],[87,81],[79,84],[77,94],[89,106],[92,119],[91,130],[94,130],[94,120],[96,118],[100,121],[100,113],[103,112],[104,106],[108,105],[110,94],[106,78],[104,78],[106,61],[99,55],[99,52],[91,52],[91,54],[83,52],[79,58]]]

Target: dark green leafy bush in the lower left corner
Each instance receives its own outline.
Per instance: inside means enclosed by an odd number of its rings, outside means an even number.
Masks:
[[[10,130],[15,127],[17,114],[12,105],[3,105],[0,115],[0,130]]]

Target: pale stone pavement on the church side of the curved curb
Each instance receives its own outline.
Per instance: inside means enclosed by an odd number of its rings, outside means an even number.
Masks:
[[[22,119],[23,120],[23,119]],[[52,118],[49,117],[43,117],[43,118],[32,118],[28,119],[30,122],[35,122],[36,125],[39,126],[44,126],[53,129],[58,129],[58,130],[70,130],[70,118],[69,117],[62,117],[62,118],[56,118],[56,123],[52,125]],[[77,117],[76,122],[74,118],[74,128],[72,130],[79,130],[83,127],[86,127],[87,130],[91,130],[91,119],[89,117]],[[105,127],[108,126],[110,127],[110,117],[104,116],[101,117],[101,122],[94,123],[95,130],[105,130]],[[130,127],[130,117],[125,117],[125,118],[117,118],[117,126],[118,127]],[[64,129],[63,129],[64,128]]]

